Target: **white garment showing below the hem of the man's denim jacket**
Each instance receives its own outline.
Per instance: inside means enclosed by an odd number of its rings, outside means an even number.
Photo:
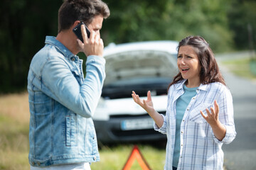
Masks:
[[[88,162],[80,164],[64,164],[48,167],[31,166],[31,170],[91,170]]]

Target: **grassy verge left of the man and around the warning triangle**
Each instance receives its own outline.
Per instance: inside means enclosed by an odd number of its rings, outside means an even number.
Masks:
[[[0,96],[0,170],[29,169],[28,164],[29,111],[28,94]],[[164,169],[165,149],[150,144],[138,144],[151,169]],[[154,145],[154,146],[157,146]],[[102,145],[100,162],[92,163],[92,170],[119,170],[127,162],[132,144]],[[132,170],[141,169],[137,161]]]

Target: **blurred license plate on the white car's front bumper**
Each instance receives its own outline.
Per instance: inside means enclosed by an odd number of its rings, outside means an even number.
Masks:
[[[122,120],[121,130],[153,129],[153,123],[151,118]]]

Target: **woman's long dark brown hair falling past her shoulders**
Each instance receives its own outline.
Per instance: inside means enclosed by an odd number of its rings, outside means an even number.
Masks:
[[[223,75],[220,73],[220,69],[213,55],[213,51],[210,49],[208,42],[200,36],[188,36],[178,43],[178,50],[181,46],[190,45],[198,55],[199,63],[201,65],[200,82],[201,84],[210,84],[213,82],[220,82],[225,85]],[[183,80],[181,72],[174,77],[174,80],[169,84],[177,84]]]

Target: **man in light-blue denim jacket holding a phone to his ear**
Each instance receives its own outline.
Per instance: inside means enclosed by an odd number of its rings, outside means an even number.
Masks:
[[[92,115],[105,79],[103,18],[110,10],[101,0],[66,0],[58,12],[58,35],[31,61],[28,100],[31,113],[31,169],[90,169],[100,160]],[[82,43],[73,28],[84,22]],[[78,52],[87,55],[86,77]]]

